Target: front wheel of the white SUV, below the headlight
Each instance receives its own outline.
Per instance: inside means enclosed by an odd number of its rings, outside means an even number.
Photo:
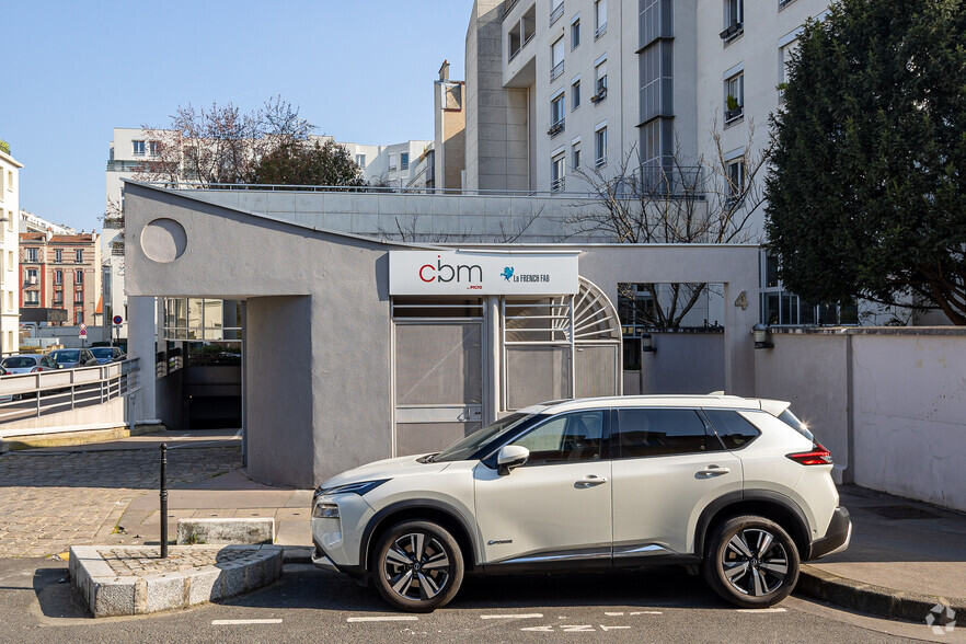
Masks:
[[[456,539],[432,521],[403,521],[376,544],[372,578],[392,606],[429,612],[449,603],[463,580],[463,556]]]

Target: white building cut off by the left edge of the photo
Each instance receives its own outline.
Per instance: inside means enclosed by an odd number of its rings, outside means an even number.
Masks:
[[[10,153],[10,143],[0,139],[0,354],[20,348],[16,216],[21,168]]]

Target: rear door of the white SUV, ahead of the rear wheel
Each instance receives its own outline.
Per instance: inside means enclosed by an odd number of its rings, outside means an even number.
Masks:
[[[697,409],[631,407],[613,415],[614,561],[693,553],[701,511],[740,492],[740,459]]]

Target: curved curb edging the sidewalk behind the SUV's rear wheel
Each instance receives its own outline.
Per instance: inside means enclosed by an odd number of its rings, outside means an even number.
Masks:
[[[966,599],[895,590],[840,577],[807,564],[802,564],[797,589],[842,608],[910,622],[921,622],[936,605],[966,614]]]

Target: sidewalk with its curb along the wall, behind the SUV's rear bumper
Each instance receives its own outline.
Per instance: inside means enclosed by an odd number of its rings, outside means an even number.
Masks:
[[[921,621],[935,605],[966,616],[966,515],[854,485],[839,494],[849,550],[803,565],[800,590],[892,618]]]

